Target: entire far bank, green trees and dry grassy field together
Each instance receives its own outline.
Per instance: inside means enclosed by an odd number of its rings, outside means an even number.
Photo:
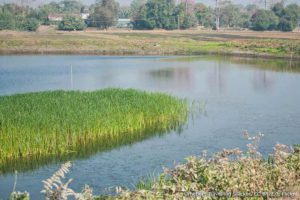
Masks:
[[[6,3],[0,5],[0,54],[227,54],[299,59],[299,5],[248,3],[134,0],[120,6],[115,0],[91,5],[64,0],[32,8]]]

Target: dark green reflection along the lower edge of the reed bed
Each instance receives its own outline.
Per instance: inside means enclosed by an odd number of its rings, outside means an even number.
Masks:
[[[78,159],[87,159],[90,156],[99,153],[109,151],[115,148],[119,148],[125,145],[131,145],[136,142],[149,139],[154,136],[162,136],[164,134],[175,131],[180,134],[185,129],[185,122],[174,122],[168,127],[161,127],[159,124],[155,124],[152,127],[147,127],[143,132],[135,132],[130,134],[117,134],[107,135],[105,138],[97,141],[86,141],[81,147],[75,151],[70,152],[67,155],[51,155],[51,156],[36,156],[21,159],[6,160],[0,165],[0,174],[6,175],[18,172],[27,172],[35,170],[41,166],[61,163],[66,161],[73,161]]]

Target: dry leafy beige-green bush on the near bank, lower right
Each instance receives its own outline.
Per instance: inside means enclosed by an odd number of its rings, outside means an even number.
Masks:
[[[300,151],[278,144],[265,160],[257,151],[261,135],[248,151],[223,150],[212,158],[190,157],[175,169],[165,169],[152,187],[125,191],[116,199],[296,199],[300,186]],[[296,188],[296,189],[295,189]],[[293,193],[294,192],[294,193]]]

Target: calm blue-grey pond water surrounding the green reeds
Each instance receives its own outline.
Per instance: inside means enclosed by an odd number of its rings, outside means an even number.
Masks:
[[[264,155],[277,143],[300,143],[300,66],[285,61],[217,57],[0,56],[0,95],[45,90],[97,90],[107,87],[167,92],[207,102],[206,112],[181,133],[122,146],[74,160],[71,187],[85,184],[96,193],[133,187],[162,166],[207,149],[245,149],[242,132],[265,137]],[[61,163],[20,172],[17,190],[39,199],[41,180]],[[13,188],[13,174],[0,176],[0,197]]]

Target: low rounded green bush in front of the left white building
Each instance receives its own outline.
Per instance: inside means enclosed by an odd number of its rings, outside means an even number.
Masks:
[[[84,30],[86,28],[85,22],[75,16],[66,16],[59,23],[58,29],[65,31],[75,31],[75,30]]]

